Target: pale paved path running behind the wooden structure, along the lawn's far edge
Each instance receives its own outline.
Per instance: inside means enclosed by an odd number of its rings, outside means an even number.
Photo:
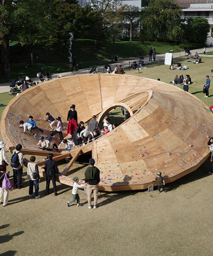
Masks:
[[[207,51],[208,52],[211,52],[213,51],[213,47],[209,47],[207,48]],[[192,53],[192,55],[195,55],[196,52],[203,52],[203,48],[202,49],[194,49],[194,50],[191,50],[190,51]],[[175,52],[173,53],[173,58],[177,58],[177,57],[180,57],[180,56],[184,56],[185,55],[185,52]],[[212,57],[213,55],[202,55],[202,57],[205,56],[205,57]],[[139,57],[132,57],[132,58],[123,58],[123,59],[119,59],[119,61],[117,62],[118,65],[122,65],[123,68],[126,68],[126,67],[129,67],[129,65],[133,62],[133,61],[139,61]],[[159,54],[159,55],[156,55],[156,61],[164,61],[165,59],[165,54]],[[149,60],[149,56],[145,56],[144,57],[144,62],[145,63],[150,63]],[[116,65],[116,63],[112,64],[111,66],[114,66]],[[97,66],[98,70],[100,70],[101,72],[104,72],[105,69],[103,68],[103,66]],[[80,74],[88,74],[89,73],[89,69],[88,68],[85,68],[85,69],[82,69],[82,70],[78,70],[77,72],[76,71],[69,71],[69,72],[64,72],[64,73],[58,73],[58,74],[55,74],[55,75],[52,75],[52,78],[53,79],[56,79],[58,78],[58,76],[74,76],[74,75],[80,75]],[[33,81],[37,81],[37,78],[33,78],[32,79]],[[0,84],[0,93],[5,93],[5,92],[9,92],[11,87],[9,87],[9,83],[3,83],[3,84]]]

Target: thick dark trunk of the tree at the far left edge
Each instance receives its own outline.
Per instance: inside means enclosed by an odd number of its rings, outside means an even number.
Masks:
[[[0,36],[1,40],[1,62],[2,76],[9,78],[10,75],[10,52],[9,52],[9,35]]]

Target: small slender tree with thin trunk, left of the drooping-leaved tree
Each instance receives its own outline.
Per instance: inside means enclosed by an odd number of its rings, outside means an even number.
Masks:
[[[136,6],[129,6],[125,5],[123,9],[122,16],[124,20],[129,23],[130,25],[130,36],[129,41],[132,41],[132,32],[135,27],[138,27],[140,15],[139,15],[139,8]]]

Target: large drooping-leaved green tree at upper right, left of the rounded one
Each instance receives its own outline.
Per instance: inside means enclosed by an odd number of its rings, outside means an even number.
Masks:
[[[177,32],[182,10],[173,0],[149,0],[141,11],[141,25],[147,39],[171,37]]]

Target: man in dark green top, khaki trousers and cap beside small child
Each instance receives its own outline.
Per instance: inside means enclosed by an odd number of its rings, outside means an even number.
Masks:
[[[97,208],[98,201],[98,186],[100,182],[100,171],[97,167],[94,166],[95,160],[93,158],[89,159],[89,166],[85,170],[85,184],[87,184],[87,200],[88,208],[92,209],[91,198],[92,192],[94,194],[94,209]]]

